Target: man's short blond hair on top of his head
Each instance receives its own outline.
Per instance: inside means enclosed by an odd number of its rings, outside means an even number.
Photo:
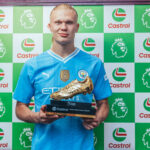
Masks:
[[[78,13],[77,13],[77,11],[76,11],[72,6],[70,6],[69,4],[59,4],[59,5],[55,6],[55,7],[52,9],[51,13],[50,13],[50,18],[51,18],[52,14],[53,14],[56,10],[61,9],[61,8],[70,9],[70,10],[72,10],[73,12],[75,12],[76,19],[78,20]]]

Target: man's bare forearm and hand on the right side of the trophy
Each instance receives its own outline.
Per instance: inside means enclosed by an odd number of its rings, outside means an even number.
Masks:
[[[99,101],[97,100],[96,103],[97,103],[96,118],[94,119],[83,118],[83,126],[87,130],[91,130],[97,127],[108,116],[108,113],[109,113],[108,99],[103,99]]]

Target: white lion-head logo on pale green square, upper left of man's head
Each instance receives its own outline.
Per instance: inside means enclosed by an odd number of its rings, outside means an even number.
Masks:
[[[25,29],[32,29],[37,21],[31,9],[27,9],[20,17],[20,23]]]

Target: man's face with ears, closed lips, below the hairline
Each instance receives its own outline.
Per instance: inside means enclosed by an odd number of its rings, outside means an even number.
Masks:
[[[64,8],[55,10],[51,15],[49,28],[55,42],[61,45],[74,43],[74,36],[79,28],[75,12]]]

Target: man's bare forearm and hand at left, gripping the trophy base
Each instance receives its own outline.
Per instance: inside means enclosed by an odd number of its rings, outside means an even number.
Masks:
[[[21,103],[17,101],[16,104],[16,116],[25,122],[30,123],[51,123],[59,118],[63,118],[63,116],[51,115],[47,116],[45,113],[45,105],[43,105],[40,109],[40,112],[32,112],[28,104]]]

